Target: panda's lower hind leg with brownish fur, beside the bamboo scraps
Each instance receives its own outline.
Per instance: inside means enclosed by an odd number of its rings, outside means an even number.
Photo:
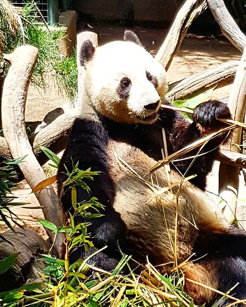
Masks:
[[[246,261],[241,257],[190,262],[184,267],[184,276],[185,291],[198,305],[206,303],[207,307],[217,302],[216,307],[225,307],[236,302],[223,297],[222,293],[231,289],[229,296],[246,299]]]

